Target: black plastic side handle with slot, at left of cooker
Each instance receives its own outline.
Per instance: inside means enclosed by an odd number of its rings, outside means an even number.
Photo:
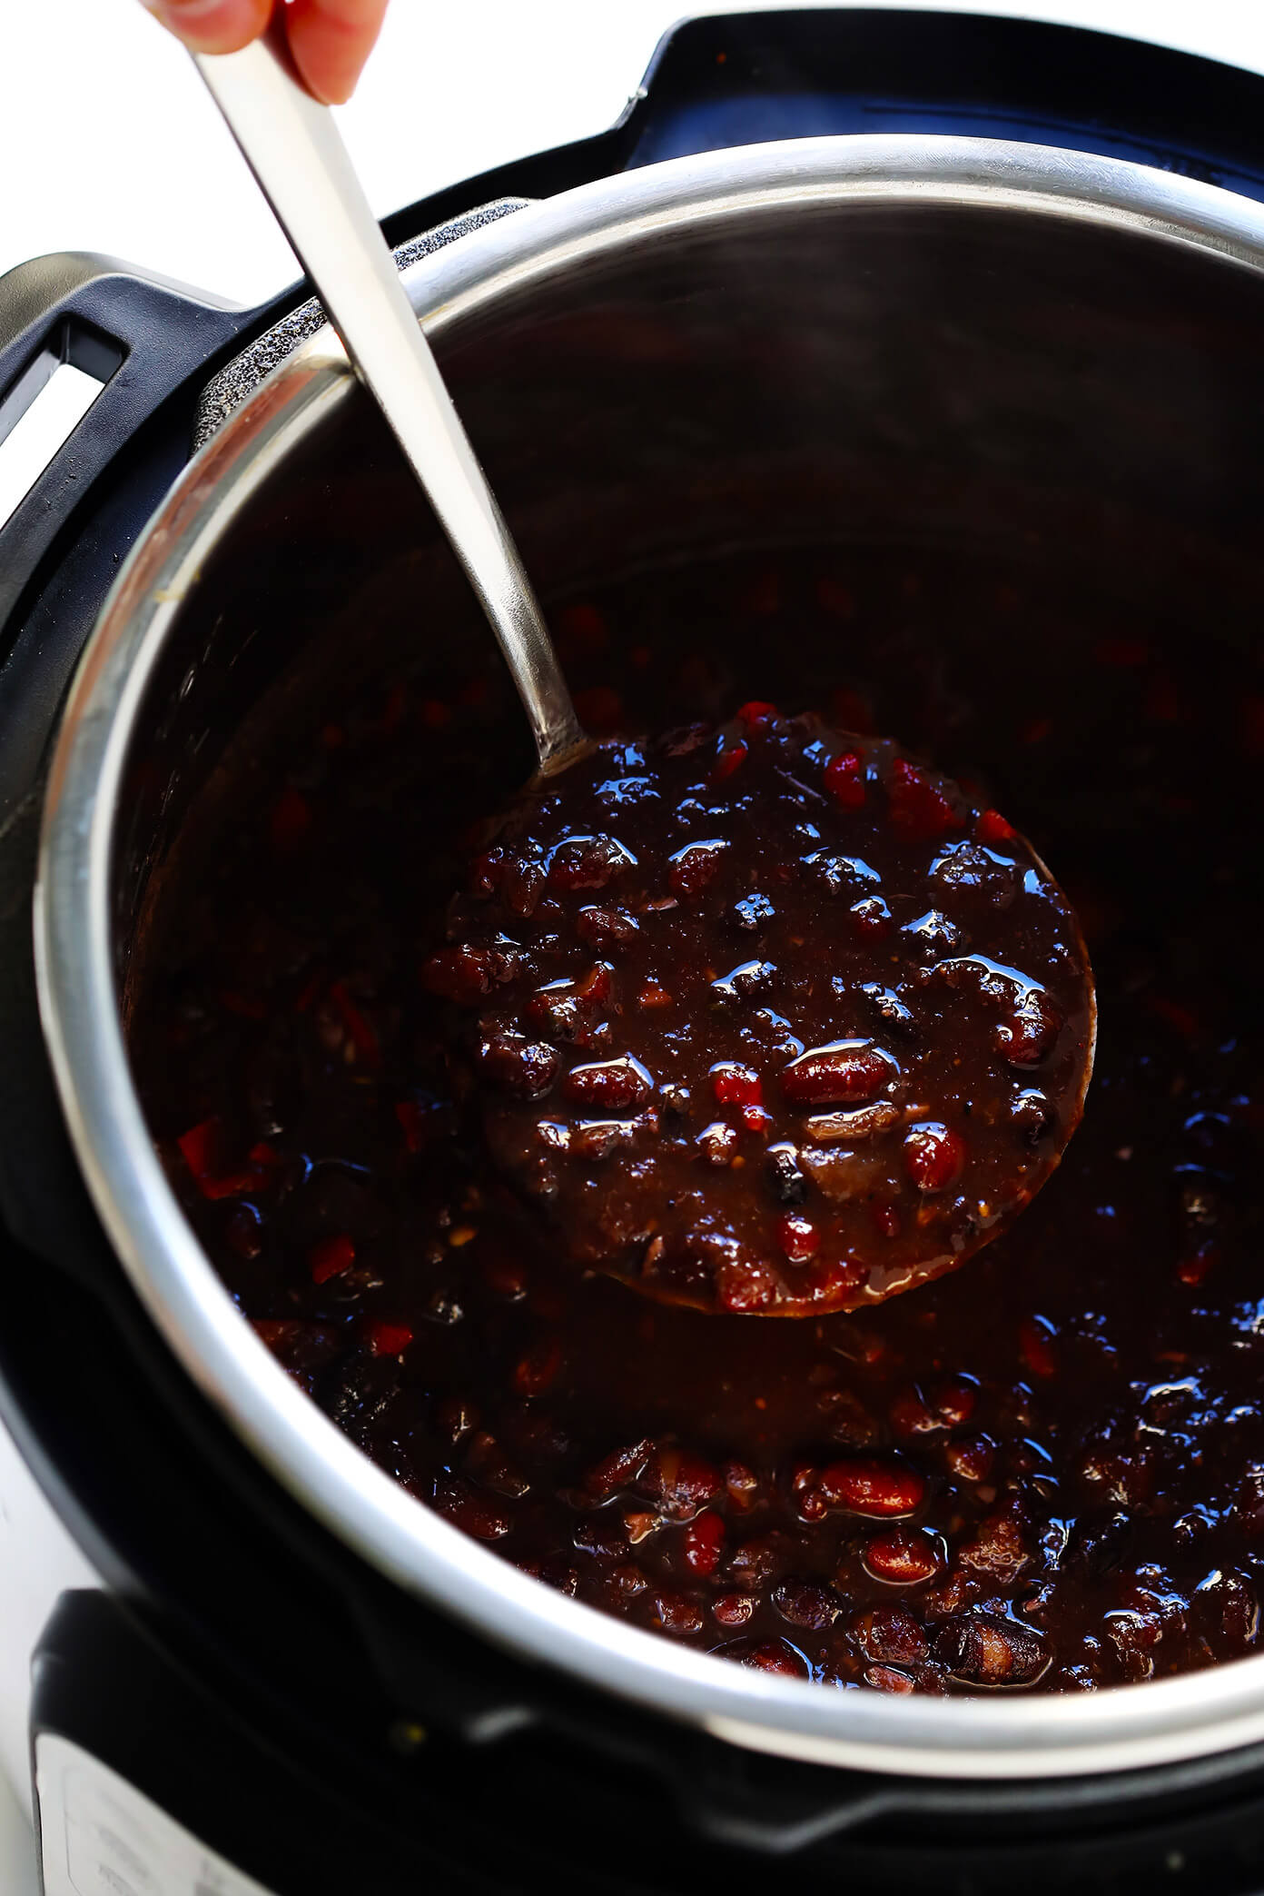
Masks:
[[[0,527],[0,626],[114,455],[254,319],[106,256],[42,256],[0,277],[0,442],[61,362],[102,383]]]

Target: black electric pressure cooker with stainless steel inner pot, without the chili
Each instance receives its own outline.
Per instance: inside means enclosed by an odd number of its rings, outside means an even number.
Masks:
[[[610,133],[387,233],[546,601],[934,538],[1258,639],[1260,78],[1002,19],[705,19]],[[229,311],[45,258],[0,281],[0,432],[59,360],[102,392],[0,533],[0,1392],[68,1530],[45,1888],[1262,1887],[1264,1653],[1065,1699],[747,1672],[498,1562],[288,1382],[155,1160],[133,971],[243,743],[485,633],[301,286]]]

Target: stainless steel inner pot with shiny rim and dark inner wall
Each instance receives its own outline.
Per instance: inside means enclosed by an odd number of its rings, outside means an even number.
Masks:
[[[546,599],[726,546],[1004,550],[1137,618],[1258,637],[1264,207],[1037,146],[813,138],[517,210],[407,288]],[[845,629],[840,629],[840,639]],[[1264,1739],[1264,1653],[1092,1699],[889,1699],[675,1650],[411,1500],[290,1382],[163,1177],[123,1024],[195,798],[330,675],[485,639],[320,330],[197,455],[74,684],[36,891],[44,1026],[87,1183],[171,1348],[360,1555],[491,1640],[733,1742],[923,1777],[1059,1777]],[[993,664],[1074,664],[1012,626]],[[1031,669],[1035,667],[1035,671]],[[506,724],[506,783],[527,768]]]

